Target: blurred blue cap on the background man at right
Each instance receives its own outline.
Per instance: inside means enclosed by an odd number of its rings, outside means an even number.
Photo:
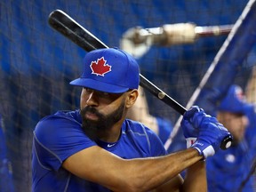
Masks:
[[[243,89],[233,84],[229,87],[226,96],[221,100],[218,110],[245,114],[250,104],[246,102]]]

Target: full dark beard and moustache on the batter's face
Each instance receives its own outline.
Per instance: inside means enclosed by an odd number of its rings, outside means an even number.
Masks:
[[[90,112],[96,116],[99,117],[98,120],[91,120],[87,119],[85,117],[85,114],[87,112]],[[124,100],[122,101],[121,105],[116,108],[115,111],[113,111],[111,114],[108,114],[107,116],[104,116],[101,114],[96,108],[93,108],[91,106],[87,106],[85,108],[82,108],[80,111],[80,114],[82,116],[82,128],[84,132],[92,139],[96,139],[95,133],[97,132],[104,132],[108,131],[113,124],[116,124],[124,115]]]

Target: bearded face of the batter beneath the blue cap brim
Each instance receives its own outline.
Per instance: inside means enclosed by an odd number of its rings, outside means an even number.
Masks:
[[[83,88],[81,93],[83,127],[91,131],[106,131],[124,117],[124,94],[98,92]]]

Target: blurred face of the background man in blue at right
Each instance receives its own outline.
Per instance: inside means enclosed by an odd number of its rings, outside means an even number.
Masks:
[[[231,132],[235,142],[243,140],[245,129],[249,123],[247,116],[221,111],[218,113],[217,118]]]

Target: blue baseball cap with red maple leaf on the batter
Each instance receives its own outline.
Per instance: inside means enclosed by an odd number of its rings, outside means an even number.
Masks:
[[[140,69],[127,52],[117,48],[98,49],[87,52],[82,76],[70,84],[100,92],[127,92],[138,89]]]

